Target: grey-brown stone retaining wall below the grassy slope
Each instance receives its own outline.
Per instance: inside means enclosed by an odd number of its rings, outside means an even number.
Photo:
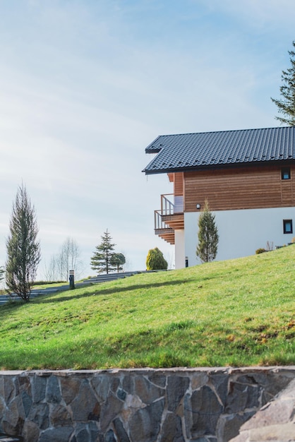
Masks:
[[[0,432],[28,442],[227,442],[294,378],[295,366],[0,371]]]

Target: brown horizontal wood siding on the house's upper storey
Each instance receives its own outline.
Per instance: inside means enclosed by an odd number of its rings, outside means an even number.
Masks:
[[[184,210],[195,212],[207,198],[211,210],[239,210],[295,205],[295,168],[282,180],[281,168],[241,167],[184,173]]]

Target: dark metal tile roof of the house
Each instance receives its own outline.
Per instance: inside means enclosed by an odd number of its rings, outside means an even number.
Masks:
[[[145,174],[295,160],[295,126],[158,136]]]

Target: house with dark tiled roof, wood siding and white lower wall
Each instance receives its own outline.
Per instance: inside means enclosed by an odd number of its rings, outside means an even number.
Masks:
[[[207,198],[219,233],[217,260],[287,244],[295,220],[295,127],[158,136],[145,174],[168,174],[155,234],[175,244],[175,267],[196,265],[198,217]]]

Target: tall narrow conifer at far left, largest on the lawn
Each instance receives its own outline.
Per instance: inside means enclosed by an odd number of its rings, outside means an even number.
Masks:
[[[6,240],[6,285],[11,292],[27,302],[30,300],[41,255],[35,208],[23,184],[16,193],[9,230]]]

